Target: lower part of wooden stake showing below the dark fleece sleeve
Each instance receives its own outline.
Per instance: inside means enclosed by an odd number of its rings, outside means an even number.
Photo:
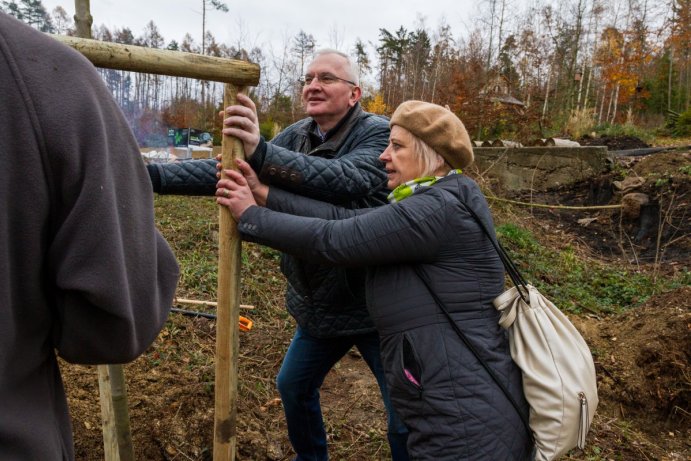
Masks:
[[[122,365],[98,365],[98,389],[106,461],[133,461],[134,447],[127,413],[127,388]]]

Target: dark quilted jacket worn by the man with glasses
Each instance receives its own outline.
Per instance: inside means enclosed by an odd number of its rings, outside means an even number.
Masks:
[[[322,143],[316,123],[303,119],[270,142],[260,142],[249,163],[272,190],[347,208],[386,203],[386,172],[379,155],[389,138],[388,120],[364,112],[359,104],[329,131]],[[213,195],[216,161],[148,165],[160,194]],[[286,306],[301,328],[316,337],[374,331],[364,294],[363,269],[313,264],[282,255],[288,280]]]

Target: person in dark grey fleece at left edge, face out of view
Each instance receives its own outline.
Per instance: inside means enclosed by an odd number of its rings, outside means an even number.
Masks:
[[[0,460],[69,461],[56,354],[135,359],[168,316],[178,266],[91,63],[0,13],[0,94]]]

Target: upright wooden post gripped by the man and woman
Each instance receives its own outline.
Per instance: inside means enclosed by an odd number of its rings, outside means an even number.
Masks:
[[[223,107],[235,104],[237,93],[244,90],[226,83]],[[234,159],[245,157],[242,143],[230,136],[223,136],[221,152],[223,168],[237,169]],[[240,243],[237,224],[230,211],[226,207],[219,207],[214,461],[235,460],[240,344]]]

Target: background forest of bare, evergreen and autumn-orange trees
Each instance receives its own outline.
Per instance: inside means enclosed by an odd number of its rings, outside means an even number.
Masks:
[[[220,0],[199,1],[204,17],[228,12]],[[40,0],[2,0],[0,9],[41,31],[75,34],[62,7],[49,12]],[[98,40],[259,64],[251,96],[268,139],[304,116],[298,78],[316,50],[331,47],[308,29],[267,53],[220,43],[211,30],[202,43],[189,33],[178,42],[163,37],[154,21],[139,35],[98,24],[94,18]],[[371,112],[389,115],[407,99],[448,105],[477,139],[577,139],[613,129],[691,135],[691,0],[538,0],[530,7],[485,0],[471,29],[431,28],[421,19],[381,28],[378,37],[342,50],[357,64]],[[142,147],[165,146],[169,127],[208,131],[220,143],[222,84],[99,72]]]

